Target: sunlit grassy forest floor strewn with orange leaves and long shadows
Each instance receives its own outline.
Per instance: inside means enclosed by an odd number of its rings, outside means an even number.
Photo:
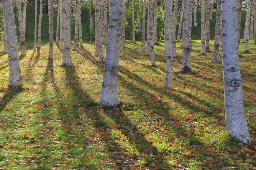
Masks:
[[[251,44],[252,40],[250,40]],[[213,41],[211,43],[211,50]],[[120,53],[121,107],[101,107],[104,64],[93,43],[71,52],[71,67],[48,42],[41,53],[20,57],[22,91],[8,87],[8,56],[0,46],[0,169],[255,169],[256,45],[240,46],[245,116],[252,145],[225,131],[223,74],[211,55],[192,41],[192,73],[180,74],[177,43],[173,90],[164,86],[164,43],[155,46],[157,67],[142,43],[126,42]]]

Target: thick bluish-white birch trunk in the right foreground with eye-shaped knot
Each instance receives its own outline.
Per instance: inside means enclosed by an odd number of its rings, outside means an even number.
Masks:
[[[222,0],[221,4],[226,130],[241,142],[251,143],[244,115],[242,79],[238,59],[237,0]]]

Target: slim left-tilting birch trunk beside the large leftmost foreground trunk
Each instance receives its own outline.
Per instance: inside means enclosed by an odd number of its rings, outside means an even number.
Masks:
[[[20,34],[20,50],[21,50],[21,56],[26,56],[26,44],[25,44],[25,32],[24,32],[24,24],[22,19],[22,12],[21,12],[21,6],[20,6],[20,0],[16,0],[17,5],[17,13],[18,13],[18,21],[19,21],[19,34]],[[8,28],[8,27],[7,27]]]

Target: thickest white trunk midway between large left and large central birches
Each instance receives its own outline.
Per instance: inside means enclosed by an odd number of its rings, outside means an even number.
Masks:
[[[70,58],[70,35],[69,35],[69,0],[63,0],[63,66],[71,66]]]

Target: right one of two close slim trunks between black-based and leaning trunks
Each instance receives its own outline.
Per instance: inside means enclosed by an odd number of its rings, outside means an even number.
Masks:
[[[204,34],[206,37],[206,52],[210,51],[210,0],[206,0],[206,24],[204,28]]]

